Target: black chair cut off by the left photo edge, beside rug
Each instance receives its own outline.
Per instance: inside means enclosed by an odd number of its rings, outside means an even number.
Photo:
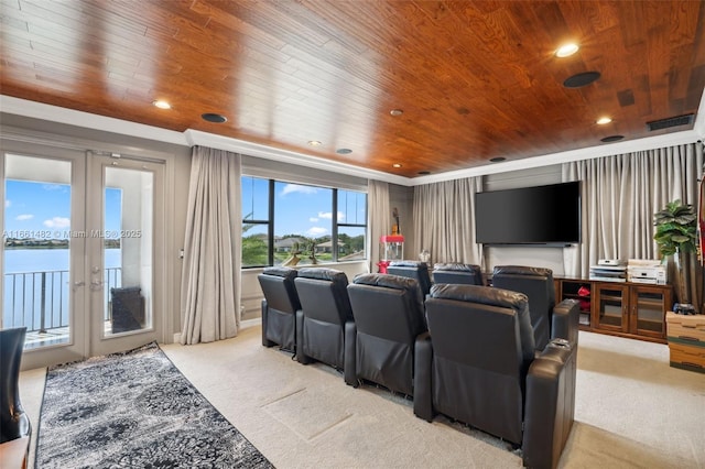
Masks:
[[[30,418],[20,402],[20,364],[25,335],[26,327],[0,330],[0,444],[32,434]]]

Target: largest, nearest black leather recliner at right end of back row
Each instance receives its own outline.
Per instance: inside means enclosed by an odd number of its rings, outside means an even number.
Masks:
[[[534,358],[527,296],[496,287],[436,284],[426,319],[414,413],[520,445],[527,467],[556,467],[575,415],[576,347],[552,341]]]

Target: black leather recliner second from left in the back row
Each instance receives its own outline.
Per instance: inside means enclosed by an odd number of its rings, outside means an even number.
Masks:
[[[307,268],[299,271],[294,284],[301,299],[296,359],[303,364],[314,359],[343,370],[345,327],[354,320],[347,275],[335,269]]]

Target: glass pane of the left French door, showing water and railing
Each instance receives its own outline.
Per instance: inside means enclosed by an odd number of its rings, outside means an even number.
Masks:
[[[20,167],[44,174],[26,177]],[[3,327],[26,327],[25,348],[68,343],[69,161],[7,155]]]

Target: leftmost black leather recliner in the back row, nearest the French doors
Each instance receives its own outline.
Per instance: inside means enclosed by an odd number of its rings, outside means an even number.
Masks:
[[[257,276],[264,294],[262,299],[262,345],[279,343],[284,350],[296,351],[296,312],[301,309],[294,285],[296,270],[264,268]]]

